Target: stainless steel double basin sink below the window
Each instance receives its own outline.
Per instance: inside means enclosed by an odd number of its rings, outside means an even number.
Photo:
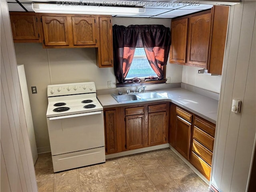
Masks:
[[[130,93],[124,95],[112,94],[111,95],[118,103],[130,103],[138,101],[147,101],[166,98],[166,96],[155,91],[146,91],[143,93]]]

